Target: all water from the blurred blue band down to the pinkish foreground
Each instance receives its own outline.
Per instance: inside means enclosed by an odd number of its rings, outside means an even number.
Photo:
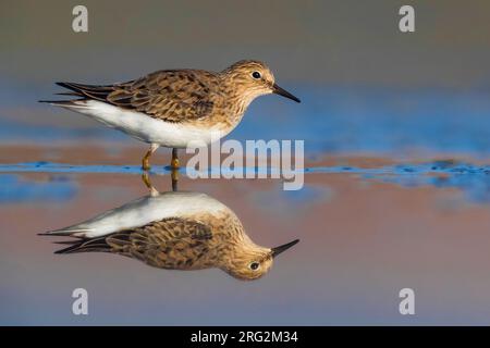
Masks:
[[[233,137],[304,139],[303,189],[180,174],[180,190],[228,206],[256,244],[301,239],[253,282],[117,254],[54,254],[63,238],[38,233],[148,194],[145,147],[76,114],[9,104],[0,115],[0,323],[488,324],[488,98],[297,94],[304,109],[254,103]],[[171,190],[167,161],[163,150],[154,159],[160,191]],[[72,314],[77,287],[88,290],[87,316]],[[399,313],[405,287],[416,294],[414,316]]]

